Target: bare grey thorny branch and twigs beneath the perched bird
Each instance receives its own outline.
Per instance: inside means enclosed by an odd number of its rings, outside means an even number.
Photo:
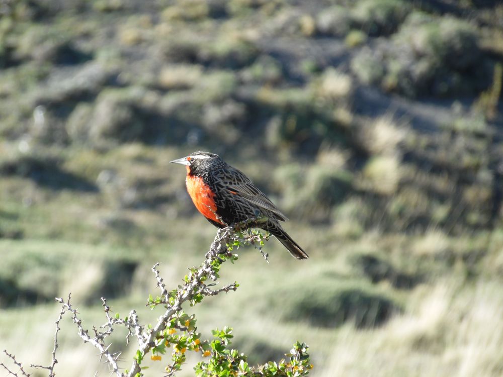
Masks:
[[[31,365],[34,368],[47,369],[49,371],[49,377],[54,377],[54,367],[57,364],[58,360],[56,359],[56,350],[58,348],[58,332],[61,330],[59,327],[59,322],[63,318],[64,314],[69,312],[73,323],[77,327],[77,332],[80,338],[84,341],[84,343],[91,343],[94,347],[99,350],[99,355],[101,358],[105,358],[105,362],[109,364],[111,374],[115,374],[118,377],[134,377],[137,373],[140,372],[140,363],[137,358],[134,358],[133,363],[129,370],[125,372],[121,371],[121,368],[118,365],[118,360],[120,357],[120,352],[112,353],[109,348],[110,344],[107,344],[106,338],[109,337],[113,330],[114,326],[122,325],[125,326],[128,330],[128,334],[126,336],[126,345],[129,344],[130,338],[136,338],[138,341],[138,351],[141,354],[147,354],[152,347],[155,346],[155,337],[161,331],[163,331],[167,324],[170,322],[171,318],[176,315],[178,312],[182,310],[182,305],[190,300],[193,300],[196,295],[203,296],[214,296],[221,292],[229,292],[235,291],[237,289],[237,284],[229,284],[220,289],[210,289],[209,287],[214,286],[213,284],[205,284],[206,278],[210,278],[212,281],[217,280],[217,274],[214,271],[213,265],[214,262],[218,261],[219,263],[223,262],[226,257],[231,257],[233,254],[229,251],[227,245],[232,245],[235,241],[239,239],[239,236],[243,236],[241,232],[242,229],[247,228],[250,224],[256,224],[256,219],[249,219],[245,222],[234,226],[227,226],[226,228],[219,229],[213,243],[210,246],[209,251],[206,253],[206,260],[199,266],[197,269],[194,269],[191,274],[189,274],[189,278],[186,279],[185,284],[181,286],[173,296],[169,291],[166,290],[164,280],[160,276],[159,270],[157,269],[159,263],[156,263],[152,267],[152,271],[155,275],[155,279],[157,280],[157,287],[161,291],[161,299],[154,303],[155,305],[162,304],[165,307],[165,312],[158,318],[157,323],[151,327],[147,328],[145,325],[141,325],[136,314],[135,310],[132,310],[129,313],[129,316],[121,319],[118,317],[112,317],[110,315],[110,307],[107,305],[107,301],[105,298],[101,298],[102,305],[105,311],[105,317],[107,322],[96,328],[93,326],[93,335],[90,335],[89,330],[83,328],[82,320],[78,316],[78,312],[73,308],[70,303],[71,294],[68,295],[67,300],[63,300],[62,298],[56,298],[56,302],[61,305],[61,311],[59,313],[59,317],[56,323],[56,331],[54,333],[54,348],[52,351],[52,362],[49,366],[43,365]],[[267,237],[266,237],[267,238]],[[267,254],[262,252],[262,246],[257,246],[256,243],[260,242],[261,239],[257,236],[251,235],[246,238],[246,240],[254,245],[262,255],[267,259]],[[102,329],[102,330],[100,330]],[[0,363],[0,367],[3,367],[5,370],[9,372],[10,375],[14,376],[24,376],[30,377],[22,367],[22,364],[18,362],[14,355],[9,354],[6,350],[4,350],[5,354],[16,364],[19,368],[17,372],[11,370],[7,365],[3,362]],[[172,370],[174,373],[175,370]],[[170,375],[170,373],[169,373]]]

